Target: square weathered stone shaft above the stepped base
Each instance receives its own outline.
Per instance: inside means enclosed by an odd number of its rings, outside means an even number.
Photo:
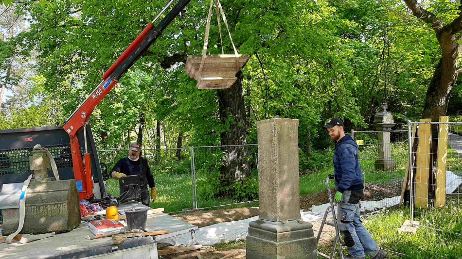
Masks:
[[[259,219],[300,219],[298,126],[294,119],[257,122]]]

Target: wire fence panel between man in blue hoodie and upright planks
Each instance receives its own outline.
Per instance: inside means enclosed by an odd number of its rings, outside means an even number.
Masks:
[[[353,131],[359,146],[366,210],[398,205],[408,163],[408,131]]]

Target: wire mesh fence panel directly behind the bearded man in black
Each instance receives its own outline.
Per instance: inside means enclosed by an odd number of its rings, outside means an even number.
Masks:
[[[158,199],[151,207],[163,207],[165,212],[193,208],[193,181],[190,148],[143,149],[142,156],[149,161],[154,174]],[[128,155],[128,149],[99,150],[100,161],[107,165],[109,174],[119,159]],[[119,195],[119,183],[110,178],[107,191]]]

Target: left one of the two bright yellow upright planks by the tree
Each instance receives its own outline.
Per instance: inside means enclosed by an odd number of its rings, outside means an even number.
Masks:
[[[421,119],[431,122],[431,119]],[[430,166],[431,125],[419,124],[419,146],[417,147],[417,169],[415,174],[415,207],[428,206],[428,176]]]

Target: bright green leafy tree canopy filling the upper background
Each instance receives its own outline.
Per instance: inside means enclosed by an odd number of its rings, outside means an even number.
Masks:
[[[308,153],[328,145],[320,126],[333,116],[347,130],[367,129],[387,103],[398,123],[422,118],[444,48],[435,22],[414,16],[412,6],[444,24],[462,10],[459,1],[441,0],[221,2],[239,53],[250,55],[242,69],[240,130],[256,143],[256,121],[299,119],[299,146]],[[14,97],[3,102],[0,129],[9,129],[62,125],[166,1],[2,3],[0,83]],[[151,147],[176,147],[180,135],[188,145],[218,145],[241,121],[226,115],[234,113],[221,103],[228,92],[197,90],[183,71],[187,55],[202,49],[209,4],[192,0],[96,108],[90,123],[100,148],[127,147],[140,132]],[[458,43],[460,32],[454,35]],[[219,39],[213,18],[210,53],[221,53]],[[226,36],[223,47],[232,53]],[[457,77],[451,91],[447,113],[461,113]],[[168,140],[161,144],[160,131]]]

